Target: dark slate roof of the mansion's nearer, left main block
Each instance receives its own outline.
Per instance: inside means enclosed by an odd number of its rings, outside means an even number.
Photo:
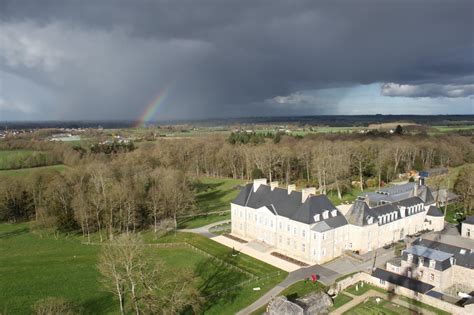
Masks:
[[[232,203],[254,209],[267,207],[277,215],[306,224],[315,223],[316,214],[320,215],[320,221],[325,221],[331,228],[347,224],[347,220],[326,195],[311,195],[304,203],[301,200],[302,194],[299,191],[288,194],[287,189],[274,188],[272,190],[268,185],[260,185],[254,192],[253,184],[247,184]],[[329,211],[329,218],[324,220],[322,214],[325,210]],[[330,213],[332,210],[337,211],[335,217]]]

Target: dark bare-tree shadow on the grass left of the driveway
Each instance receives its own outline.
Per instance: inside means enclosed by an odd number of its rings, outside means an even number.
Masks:
[[[234,301],[240,294],[240,288],[235,286],[248,279],[243,273],[225,266],[214,258],[199,263],[195,273],[202,281],[198,290],[204,298],[201,309],[203,312],[213,305]]]

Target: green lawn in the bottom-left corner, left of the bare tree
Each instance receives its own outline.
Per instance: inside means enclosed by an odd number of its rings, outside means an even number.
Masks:
[[[36,301],[61,296],[88,313],[116,313],[112,294],[100,287],[98,251],[64,237],[41,238],[27,224],[0,224],[0,309],[29,314]]]

